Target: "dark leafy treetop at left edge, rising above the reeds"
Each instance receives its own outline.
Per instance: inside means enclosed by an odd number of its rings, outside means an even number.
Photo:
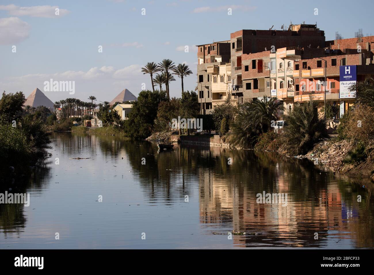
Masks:
[[[9,120],[16,119],[21,115],[25,101],[25,95],[22,92],[5,94],[4,91],[0,100],[0,115],[7,116]]]

